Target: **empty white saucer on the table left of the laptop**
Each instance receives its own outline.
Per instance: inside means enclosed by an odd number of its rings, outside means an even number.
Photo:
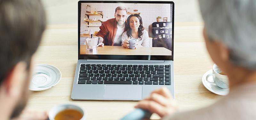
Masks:
[[[36,64],[30,81],[29,90],[43,91],[60,82],[61,72],[58,68],[48,64]]]

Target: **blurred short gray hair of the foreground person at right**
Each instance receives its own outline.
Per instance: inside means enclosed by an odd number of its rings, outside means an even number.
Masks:
[[[256,1],[199,0],[209,38],[220,40],[235,65],[256,69]]]

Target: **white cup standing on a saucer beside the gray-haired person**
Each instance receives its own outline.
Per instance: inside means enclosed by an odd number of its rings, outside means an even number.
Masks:
[[[218,87],[222,88],[222,89],[229,89],[228,86],[228,76],[225,75],[221,75],[222,71],[220,70],[220,68],[214,64],[212,67],[212,73],[208,74],[206,76],[206,80],[213,85],[217,85]],[[212,76],[213,78],[213,82],[209,81],[209,77]]]

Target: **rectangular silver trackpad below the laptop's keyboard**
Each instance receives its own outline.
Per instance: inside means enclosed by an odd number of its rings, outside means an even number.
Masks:
[[[104,98],[106,99],[142,99],[142,86],[132,85],[105,85]]]

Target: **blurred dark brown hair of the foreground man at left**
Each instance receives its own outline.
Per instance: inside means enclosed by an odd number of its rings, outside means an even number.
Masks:
[[[0,84],[18,62],[29,68],[45,25],[40,0],[0,0]]]

